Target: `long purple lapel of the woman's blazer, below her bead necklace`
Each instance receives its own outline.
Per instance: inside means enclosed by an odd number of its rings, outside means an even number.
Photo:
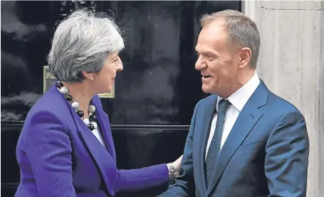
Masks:
[[[83,143],[85,144],[85,147],[88,148],[90,154],[93,156],[93,159],[98,164],[98,168],[101,171],[101,174],[103,175],[103,180],[105,181],[105,185],[107,186],[108,191],[110,192],[110,195],[114,195],[113,188],[110,186],[108,174],[112,174],[112,171],[109,171],[110,168],[107,166],[115,166],[115,161],[110,156],[108,151],[100,151],[104,150],[103,144],[101,144],[98,139],[96,139],[95,135],[88,129],[87,126],[83,123],[83,120],[78,117],[78,115],[73,111],[73,108],[70,107],[70,113],[74,119],[75,126],[78,129],[78,133],[80,134],[81,139],[83,140]],[[97,116],[98,113],[95,112],[95,115]],[[104,154],[107,154],[105,156]],[[117,176],[117,174],[116,174]]]

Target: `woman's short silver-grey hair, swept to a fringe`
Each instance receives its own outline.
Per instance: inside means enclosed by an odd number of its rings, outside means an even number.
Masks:
[[[108,53],[120,52],[124,41],[120,29],[107,14],[88,9],[73,12],[58,25],[48,65],[62,82],[82,82],[82,71],[96,73],[103,68]]]

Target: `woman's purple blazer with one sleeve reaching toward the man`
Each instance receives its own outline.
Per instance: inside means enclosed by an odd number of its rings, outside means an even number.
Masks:
[[[108,115],[93,97],[107,149],[55,86],[31,110],[16,148],[21,183],[16,197],[106,197],[167,183],[166,164],[118,170]]]

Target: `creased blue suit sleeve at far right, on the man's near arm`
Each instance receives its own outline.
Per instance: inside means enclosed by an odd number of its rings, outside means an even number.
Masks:
[[[269,197],[305,197],[309,139],[301,112],[283,115],[266,144]]]

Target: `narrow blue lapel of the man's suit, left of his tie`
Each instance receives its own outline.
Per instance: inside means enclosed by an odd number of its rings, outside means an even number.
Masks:
[[[202,184],[204,191],[207,191],[207,183],[206,183],[206,174],[205,174],[205,154],[206,154],[206,145],[207,140],[209,138],[210,126],[212,121],[212,116],[216,111],[216,103],[217,96],[214,97],[211,102],[209,102],[206,106],[203,107],[203,111],[201,112],[202,116],[202,139],[201,144],[199,145],[199,171],[202,174]]]

